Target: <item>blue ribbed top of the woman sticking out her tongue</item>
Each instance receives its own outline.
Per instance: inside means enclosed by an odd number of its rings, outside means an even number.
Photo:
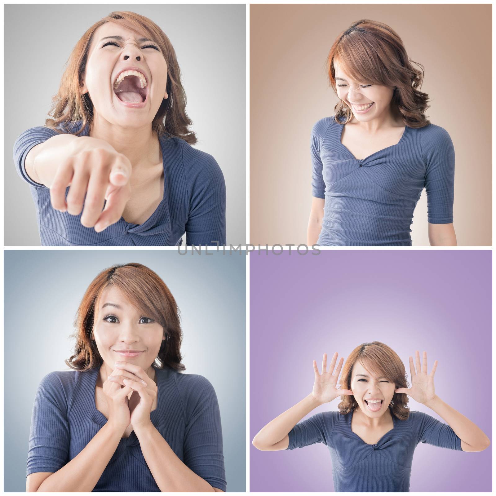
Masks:
[[[351,430],[353,412],[322,412],[298,423],[287,449],[323,442],[332,460],[336,492],[409,492],[413,452],[419,442],[461,451],[461,439],[446,424],[422,412],[407,420],[392,415],[394,428],[375,444]]]

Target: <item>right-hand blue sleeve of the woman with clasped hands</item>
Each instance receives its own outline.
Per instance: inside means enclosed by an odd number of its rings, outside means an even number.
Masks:
[[[213,488],[225,492],[227,485],[217,396],[205,377],[188,375],[183,461]]]

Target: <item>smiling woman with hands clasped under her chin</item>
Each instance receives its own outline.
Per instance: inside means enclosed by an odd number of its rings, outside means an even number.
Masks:
[[[26,491],[224,492],[219,406],[180,373],[174,297],[139,263],[103,270],[76,319],[75,370],[51,372],[31,421]]]

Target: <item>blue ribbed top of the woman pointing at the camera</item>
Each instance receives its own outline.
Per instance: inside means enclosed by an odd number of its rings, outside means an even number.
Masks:
[[[64,132],[77,132],[81,121]],[[26,155],[33,146],[55,136],[44,126],[24,131],[15,141],[13,156],[19,176],[31,186],[42,246],[180,246],[226,244],[226,185],[222,171],[208,153],[181,138],[159,138],[164,163],[164,197],[143,224],[123,217],[97,233],[84,227],[82,215],[59,212],[50,202],[50,189],[35,183],[26,173]],[[80,136],[88,136],[86,125]],[[66,194],[69,188],[66,190]]]

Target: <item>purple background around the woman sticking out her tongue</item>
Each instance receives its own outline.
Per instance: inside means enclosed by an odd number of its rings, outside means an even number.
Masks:
[[[491,251],[251,252],[250,442],[307,396],[312,360],[347,359],[381,341],[403,360],[427,351],[435,392],[492,439]],[[330,363],[330,358],[328,359]],[[310,415],[335,410],[339,399]],[[409,398],[411,410],[444,422]],[[309,415],[309,416],[310,416]],[[492,491],[492,446],[466,453],[419,443],[411,492]],[[263,452],[250,445],[250,491],[334,491],[327,447]]]

